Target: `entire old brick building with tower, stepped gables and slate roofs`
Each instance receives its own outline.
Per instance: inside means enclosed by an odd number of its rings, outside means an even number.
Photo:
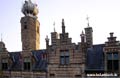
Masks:
[[[62,33],[51,32],[51,45],[45,38],[46,49],[40,49],[38,9],[31,0],[25,1],[21,18],[22,51],[7,51],[0,41],[0,78],[98,78],[119,76],[120,43],[110,33],[105,44],[93,44],[93,29],[85,28],[81,42],[75,44],[66,32],[62,19]],[[95,74],[97,73],[97,77]],[[106,75],[105,75],[106,74]],[[104,78],[103,76],[103,78]]]

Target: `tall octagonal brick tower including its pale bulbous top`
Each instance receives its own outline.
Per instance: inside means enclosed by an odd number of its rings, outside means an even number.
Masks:
[[[38,50],[40,44],[40,23],[37,20],[38,8],[31,0],[22,7],[24,17],[21,18],[22,50]]]

